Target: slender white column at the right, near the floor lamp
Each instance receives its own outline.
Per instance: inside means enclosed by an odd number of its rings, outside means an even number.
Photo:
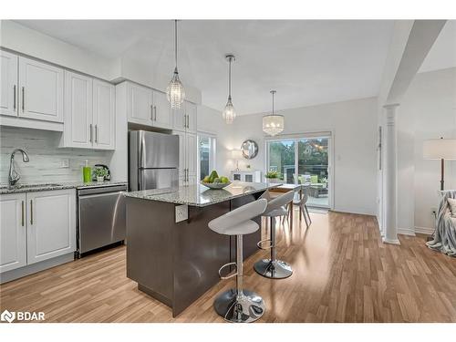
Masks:
[[[399,104],[384,106],[386,115],[385,131],[385,227],[383,242],[385,244],[400,244],[397,223],[397,132],[396,109]]]

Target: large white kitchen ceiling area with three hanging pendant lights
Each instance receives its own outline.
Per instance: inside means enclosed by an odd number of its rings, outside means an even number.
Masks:
[[[170,20],[19,20],[104,57],[127,57],[169,73]],[[202,90],[203,104],[223,109],[233,52],[233,105],[238,114],[378,95],[393,21],[187,20],[180,22],[182,81]]]

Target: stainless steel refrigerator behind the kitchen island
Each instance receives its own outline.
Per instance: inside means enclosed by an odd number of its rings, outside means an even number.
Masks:
[[[179,136],[130,131],[130,191],[179,186]]]

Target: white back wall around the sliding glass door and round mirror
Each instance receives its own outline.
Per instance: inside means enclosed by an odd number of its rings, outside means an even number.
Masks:
[[[285,116],[283,134],[312,131],[334,132],[335,201],[341,212],[376,213],[377,98],[362,98],[315,107],[278,110]],[[244,160],[252,169],[265,169],[264,114],[240,116],[220,143],[225,151],[239,149],[246,139],[255,140],[259,152],[254,160]],[[228,153],[229,157],[229,153]],[[221,161],[223,162],[223,161]],[[223,172],[233,170],[234,162],[223,162]]]

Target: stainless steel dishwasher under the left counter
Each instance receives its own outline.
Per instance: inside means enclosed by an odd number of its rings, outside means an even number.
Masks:
[[[127,184],[78,189],[77,256],[125,240]]]

